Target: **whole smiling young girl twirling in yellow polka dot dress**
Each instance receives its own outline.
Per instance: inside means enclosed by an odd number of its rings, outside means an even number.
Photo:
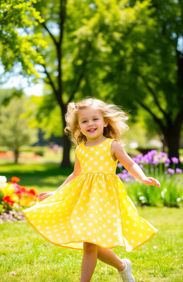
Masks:
[[[115,267],[124,282],[135,282],[128,258],[112,248],[131,252],[158,231],[140,217],[116,175],[118,160],[145,185],[158,180],[146,177],[121,145],[128,117],[119,106],[95,98],[67,104],[64,131],[77,145],[74,171],[54,192],[40,193],[39,203],[23,210],[33,228],[47,241],[83,250],[80,282],[89,282],[97,258]]]

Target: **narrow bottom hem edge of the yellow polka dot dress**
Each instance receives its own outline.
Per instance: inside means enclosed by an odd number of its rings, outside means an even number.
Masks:
[[[41,234],[41,233],[39,232],[39,230],[37,230],[37,228],[35,228],[35,226],[30,222],[29,218],[26,216],[26,214],[25,214],[24,211],[22,211],[22,213],[23,213],[23,215],[25,216],[27,222],[34,228],[34,230],[35,230],[39,235],[41,235],[45,240],[47,240],[48,242],[50,242],[51,244],[53,244],[53,245],[55,245],[55,246],[63,247],[63,248],[68,248],[68,249],[83,250],[83,248],[67,247],[67,246],[63,246],[64,244],[61,245],[61,244],[57,244],[57,243],[52,242],[52,241],[49,240],[47,237],[45,237],[43,234]],[[143,244],[145,244],[146,242],[148,242],[157,232],[158,232],[158,229],[156,229],[155,232],[154,232],[147,240],[145,240],[144,242],[142,242],[141,244],[139,244],[138,246],[136,246],[135,248],[133,248],[133,249],[130,250],[130,251],[126,251],[126,250],[125,250],[125,246],[124,246],[124,245],[120,245],[120,244],[118,244],[118,245],[116,245],[116,246],[104,247],[104,246],[101,246],[100,244],[94,243],[93,241],[84,241],[84,240],[82,240],[82,241],[70,241],[70,242],[67,242],[66,244],[69,244],[69,243],[87,242],[87,243],[92,243],[92,244],[98,245],[99,247],[105,248],[105,249],[112,249],[112,248],[116,248],[116,247],[124,247],[124,251],[125,251],[125,252],[132,252],[132,251],[135,250],[136,248],[138,248],[138,247],[142,246]]]

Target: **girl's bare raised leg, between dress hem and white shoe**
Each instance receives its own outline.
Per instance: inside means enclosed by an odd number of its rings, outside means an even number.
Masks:
[[[116,267],[119,271],[125,269],[124,262],[111,249],[98,246],[97,257],[100,261]]]

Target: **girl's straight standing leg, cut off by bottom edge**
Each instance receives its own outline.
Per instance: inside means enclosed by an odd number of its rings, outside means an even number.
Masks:
[[[89,282],[97,264],[98,245],[83,242],[83,259],[81,263],[80,282]]]

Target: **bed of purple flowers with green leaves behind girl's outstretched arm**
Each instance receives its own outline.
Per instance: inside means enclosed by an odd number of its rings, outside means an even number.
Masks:
[[[171,158],[172,168],[168,168],[171,160],[167,157],[167,154],[165,152],[158,154],[157,150],[151,150],[145,155],[139,154],[132,159],[141,167],[147,177],[154,177],[161,184],[161,189],[157,186],[144,185],[126,169],[122,169],[122,164],[118,163],[120,168],[120,173],[117,174],[118,177],[125,182],[133,183],[128,191],[128,195],[133,201],[140,205],[183,206],[183,179],[182,175],[180,175],[182,170],[175,169],[178,158]]]

